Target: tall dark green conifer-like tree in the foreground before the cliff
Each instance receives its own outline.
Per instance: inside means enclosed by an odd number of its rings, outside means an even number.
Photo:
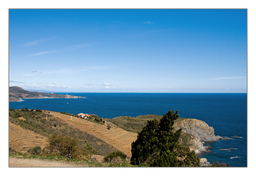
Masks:
[[[132,142],[131,163],[148,164],[153,167],[177,167],[177,155],[174,149],[181,134],[181,129],[173,132],[174,120],[178,111],[164,114],[157,120],[147,121],[146,126],[138,133],[136,141]]]

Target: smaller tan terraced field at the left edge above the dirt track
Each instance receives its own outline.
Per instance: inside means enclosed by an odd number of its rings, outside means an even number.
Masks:
[[[47,137],[9,122],[9,146],[15,151],[22,152],[24,145],[29,146],[29,148],[34,146],[42,146],[44,148],[48,144],[47,139]]]

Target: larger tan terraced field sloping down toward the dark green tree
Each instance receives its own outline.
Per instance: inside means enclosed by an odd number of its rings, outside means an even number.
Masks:
[[[50,111],[49,114],[64,120],[69,125],[75,126],[82,132],[87,132],[101,139],[102,141],[113,146],[113,148],[124,152],[128,157],[131,157],[131,143],[136,140],[137,133],[125,131],[110,122],[105,122],[104,125],[100,125],[81,118],[68,116],[66,114],[57,112]],[[108,124],[112,126],[111,129],[107,129]]]

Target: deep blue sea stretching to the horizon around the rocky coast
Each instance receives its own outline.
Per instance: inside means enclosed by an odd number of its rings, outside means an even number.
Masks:
[[[66,93],[57,93],[66,94]],[[211,152],[199,155],[212,163],[247,167],[247,94],[246,93],[67,93],[86,99],[24,99],[9,102],[14,109],[46,109],[71,114],[97,114],[102,118],[118,116],[163,115],[179,110],[179,117],[206,122],[215,135],[234,140],[209,142]],[[231,149],[221,151],[219,149]]]

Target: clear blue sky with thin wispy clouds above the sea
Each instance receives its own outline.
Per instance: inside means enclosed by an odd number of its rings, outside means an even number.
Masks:
[[[9,86],[246,93],[246,9],[10,9]]]

